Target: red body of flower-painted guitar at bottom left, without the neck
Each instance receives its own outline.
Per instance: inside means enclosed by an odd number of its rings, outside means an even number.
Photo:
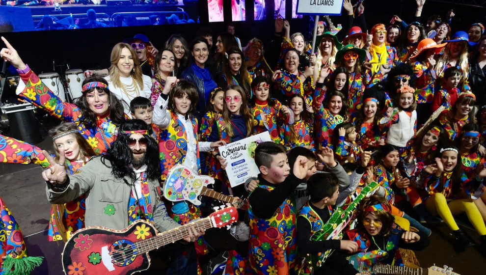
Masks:
[[[78,230],[62,252],[64,273],[125,275],[146,270],[150,266],[150,257],[148,252],[138,254],[135,242],[155,235],[155,227],[143,220],[124,230],[96,226]]]

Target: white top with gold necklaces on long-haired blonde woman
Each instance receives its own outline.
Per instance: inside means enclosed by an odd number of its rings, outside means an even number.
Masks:
[[[137,96],[145,97],[145,98],[150,98],[150,94],[152,93],[150,91],[150,88],[152,87],[152,80],[150,79],[149,76],[142,75],[142,81],[143,81],[143,88],[138,87],[138,91],[140,92],[137,94],[135,91],[130,92],[127,90],[127,93],[123,91],[121,87],[115,87],[115,85],[111,82],[111,79],[109,76],[105,77],[105,79],[108,81],[108,89],[110,92],[112,92],[123,104],[123,111],[130,115],[130,102],[132,99],[134,99]],[[134,78],[132,77],[121,77],[120,76],[120,81],[122,84],[125,84],[127,86],[131,85],[136,85],[138,84],[135,82]],[[135,82],[135,83],[134,83]],[[130,117],[132,117],[130,115]]]

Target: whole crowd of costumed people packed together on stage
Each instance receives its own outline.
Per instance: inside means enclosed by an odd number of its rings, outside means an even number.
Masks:
[[[159,49],[137,34],[73,103],[2,37],[1,57],[26,83],[19,96],[63,122],[54,155],[1,136],[0,160],[47,168],[50,241],[85,226],[143,219],[163,232],[205,217],[216,200],[173,203],[160,190],[175,165],[213,177],[212,189],[241,199],[239,222],[228,233],[192,228],[189,244],[170,250],[167,274],[201,274],[223,251],[212,271],[228,275],[368,274],[404,265],[402,249],[427,247],[438,223],[456,251],[476,245],[460,213],[486,253],[485,28],[453,30],[453,11],[421,23],[425,0],[416,2],[412,23],[393,16],[367,31],[363,4],[344,0],[347,24],[320,21],[314,51],[281,18],[266,47],[256,37],[244,46],[233,25],[217,36],[201,28],[190,43],[174,34]],[[260,174],[232,187],[219,146],[267,131],[254,154]],[[341,240],[312,238],[355,199]],[[225,234],[232,241],[221,245]]]

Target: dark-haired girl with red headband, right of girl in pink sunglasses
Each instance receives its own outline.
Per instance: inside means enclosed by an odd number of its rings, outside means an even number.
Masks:
[[[278,130],[285,127],[284,125],[294,124],[294,112],[277,99],[270,97],[270,82],[267,79],[263,77],[254,79],[251,83],[251,90],[253,91],[253,97],[250,100],[253,134],[269,131],[271,140],[283,145]]]

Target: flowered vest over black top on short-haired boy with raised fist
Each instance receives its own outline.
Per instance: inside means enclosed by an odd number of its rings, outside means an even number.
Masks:
[[[272,191],[274,188],[259,185]],[[251,195],[251,193],[250,193]],[[270,219],[260,219],[248,208],[250,220],[249,266],[258,275],[288,275],[296,260],[296,216],[290,198],[278,207]]]

